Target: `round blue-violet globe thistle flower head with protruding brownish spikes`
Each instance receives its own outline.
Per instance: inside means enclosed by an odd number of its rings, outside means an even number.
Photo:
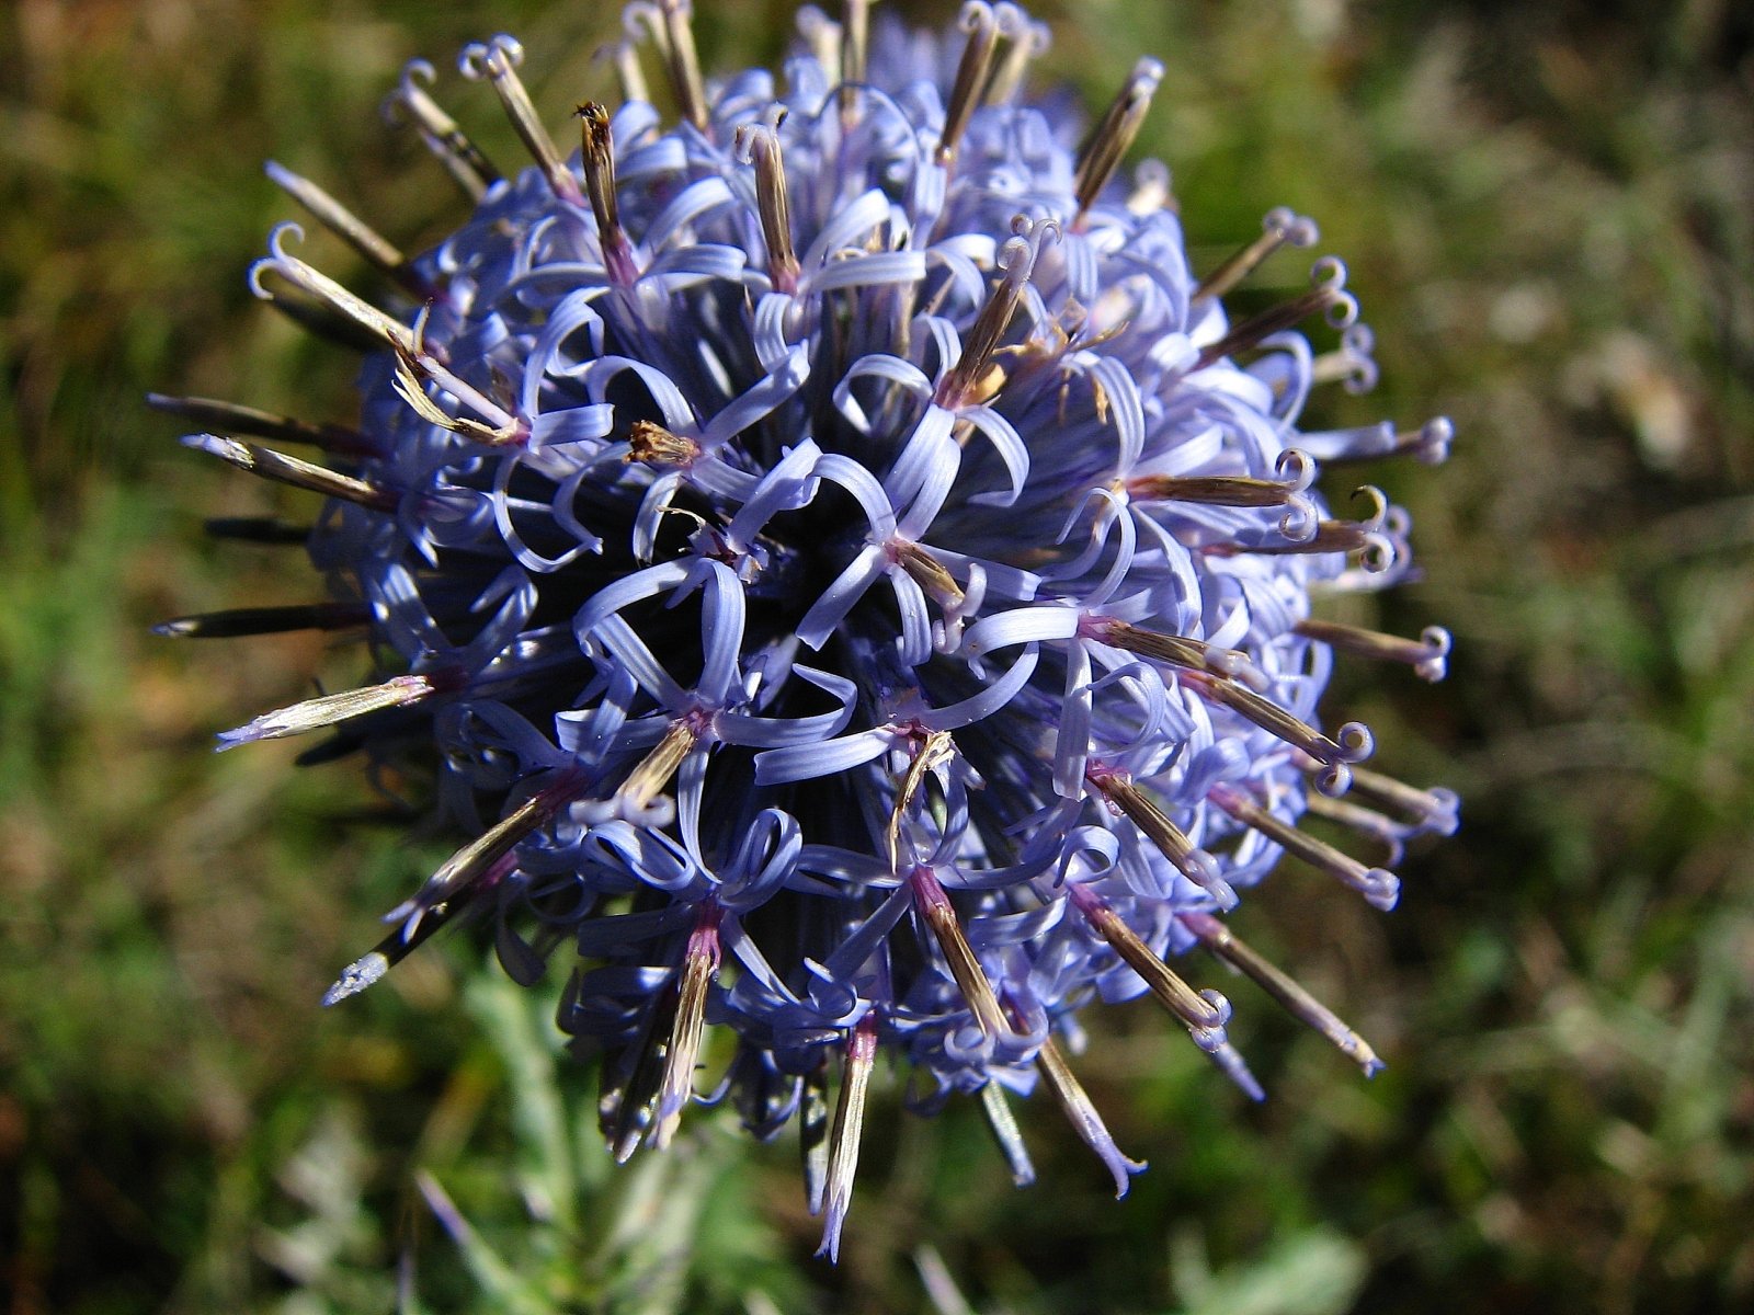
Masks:
[[[221,747],[328,731],[307,757],[424,773],[467,836],[324,1003],[454,919],[519,982],[560,957],[616,1159],[700,1101],[796,1124],[833,1255],[881,1054],[923,1112],[979,1099],[1019,1182],[1007,1094],[1045,1089],[1117,1194],[1144,1166],[1068,1061],[1084,1006],[1149,994],[1263,1094],[1193,949],[1380,1068],[1223,915],[1287,850],[1391,908],[1403,842],[1456,826],[1452,794],[1363,768],[1370,733],[1317,714],[1337,654],[1435,680],[1449,636],[1316,615],[1412,575],[1405,514],[1317,475],[1440,461],[1451,430],[1298,428],[1314,389],[1375,377],[1345,267],[1230,314],[1316,226],[1273,210],[1191,272],[1166,170],[1123,170],[1156,61],[1086,130],[1030,102],[1047,33],[1019,5],[972,0],[940,39],[851,0],[798,33],[781,75],[710,79],[686,0],[628,5],[623,103],[581,105],[570,154],[517,42],[470,46],[521,168],[410,65],[389,110],[472,214],[405,256],[270,165],[391,291],[319,272],[293,224],[251,274],[363,349],[358,423],[154,403],[323,494],[332,593],[161,629],[370,642],[372,680]]]

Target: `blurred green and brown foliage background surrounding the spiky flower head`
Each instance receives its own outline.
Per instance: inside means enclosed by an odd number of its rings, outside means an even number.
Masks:
[[[923,21],[951,5],[895,0]],[[403,245],[449,184],[377,119],[403,60],[521,33],[551,123],[609,86],[607,4],[12,0],[0,9],[0,1290],[65,1311],[1708,1311],[1754,1308],[1754,14],[1733,0],[1063,0],[1047,75],[1168,79],[1165,158],[1210,267],[1291,203],[1344,254],[1382,387],[1454,416],[1384,470],[1456,631],[1447,684],[1349,668],[1331,712],[1461,789],[1391,917],[1287,864],[1240,913],[1377,1043],[1372,1084],[1237,989],[1249,1106],[1147,1005],[1082,1073],[1131,1196],[1040,1101],[1014,1192],[970,1110],[895,1084],[838,1269],[793,1152],[696,1115],[614,1171],[553,1001],[467,936],[324,1013],[444,852],[367,826],[347,766],[216,759],[296,698],[307,636],[154,640],[300,601],[309,512],[175,447],[147,389],[351,414],[351,365],[247,293],[274,156]],[[772,58],[789,0],[700,5]],[[505,160],[491,95],[453,109]],[[363,279],[339,244],[319,263]],[[1291,286],[1289,258],[1266,282]],[[346,661],[346,659],[342,659]],[[346,670],[346,668],[342,668]],[[282,750],[284,749],[284,750]]]

